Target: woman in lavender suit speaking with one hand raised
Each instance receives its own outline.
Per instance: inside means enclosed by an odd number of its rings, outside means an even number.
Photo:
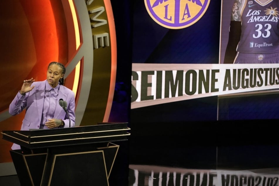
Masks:
[[[51,62],[46,80],[35,82],[31,78],[23,81],[21,90],[9,106],[11,115],[26,108],[21,130],[75,126],[75,93],[63,86],[65,71],[63,64]],[[60,106],[62,102],[63,107]],[[12,149],[20,149],[20,146],[13,144]]]

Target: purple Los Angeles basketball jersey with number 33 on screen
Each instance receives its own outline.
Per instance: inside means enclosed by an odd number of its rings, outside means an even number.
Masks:
[[[279,51],[279,1],[246,1],[241,13],[240,53],[275,53]]]

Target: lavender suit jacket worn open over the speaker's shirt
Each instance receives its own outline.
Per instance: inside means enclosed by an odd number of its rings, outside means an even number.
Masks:
[[[19,114],[26,108],[21,130],[39,129],[43,112],[45,83],[47,83],[46,80],[33,82],[31,87],[33,85],[35,85],[35,87],[30,92],[27,92],[25,96],[22,96],[18,92],[11,102],[9,106],[9,113],[11,115]],[[65,127],[69,127],[69,123],[71,123],[71,127],[73,127],[75,126],[75,93],[63,85],[59,86],[58,101],[63,99],[67,102],[67,111],[70,119],[59,103],[56,105],[53,118],[62,119],[65,123]],[[44,129],[48,129],[48,127],[45,126]],[[20,146],[13,144],[12,149],[20,149]]]

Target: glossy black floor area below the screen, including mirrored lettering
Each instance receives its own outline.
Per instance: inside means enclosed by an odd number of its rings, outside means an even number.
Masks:
[[[129,186],[279,186],[275,126],[273,121],[136,123]]]

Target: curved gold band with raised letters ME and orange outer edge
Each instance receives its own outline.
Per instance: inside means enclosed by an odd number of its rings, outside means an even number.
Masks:
[[[81,2],[84,3],[84,1]],[[81,2],[75,0],[76,4]],[[88,34],[84,37],[83,42],[89,40],[88,46],[91,51],[88,50],[87,54],[92,57],[88,60],[90,68],[85,69],[87,67],[84,65],[84,70],[92,72],[92,76],[88,76],[92,79],[90,87],[88,86],[89,82],[85,85],[87,87],[85,89],[90,89],[90,91],[88,91],[87,102],[86,100],[81,102],[81,104],[87,103],[85,104],[85,112],[81,117],[82,123],[90,121],[90,124],[85,125],[91,125],[96,122],[107,122],[109,119],[116,78],[116,33],[110,0],[87,0],[85,3],[87,10],[77,11],[82,13],[79,15],[80,19],[87,13],[87,18],[84,19],[90,22],[90,32],[87,32],[88,30],[82,32],[84,35]],[[88,22],[86,27],[88,27]],[[94,110],[93,113],[92,110]],[[95,119],[92,120],[92,118]]]

